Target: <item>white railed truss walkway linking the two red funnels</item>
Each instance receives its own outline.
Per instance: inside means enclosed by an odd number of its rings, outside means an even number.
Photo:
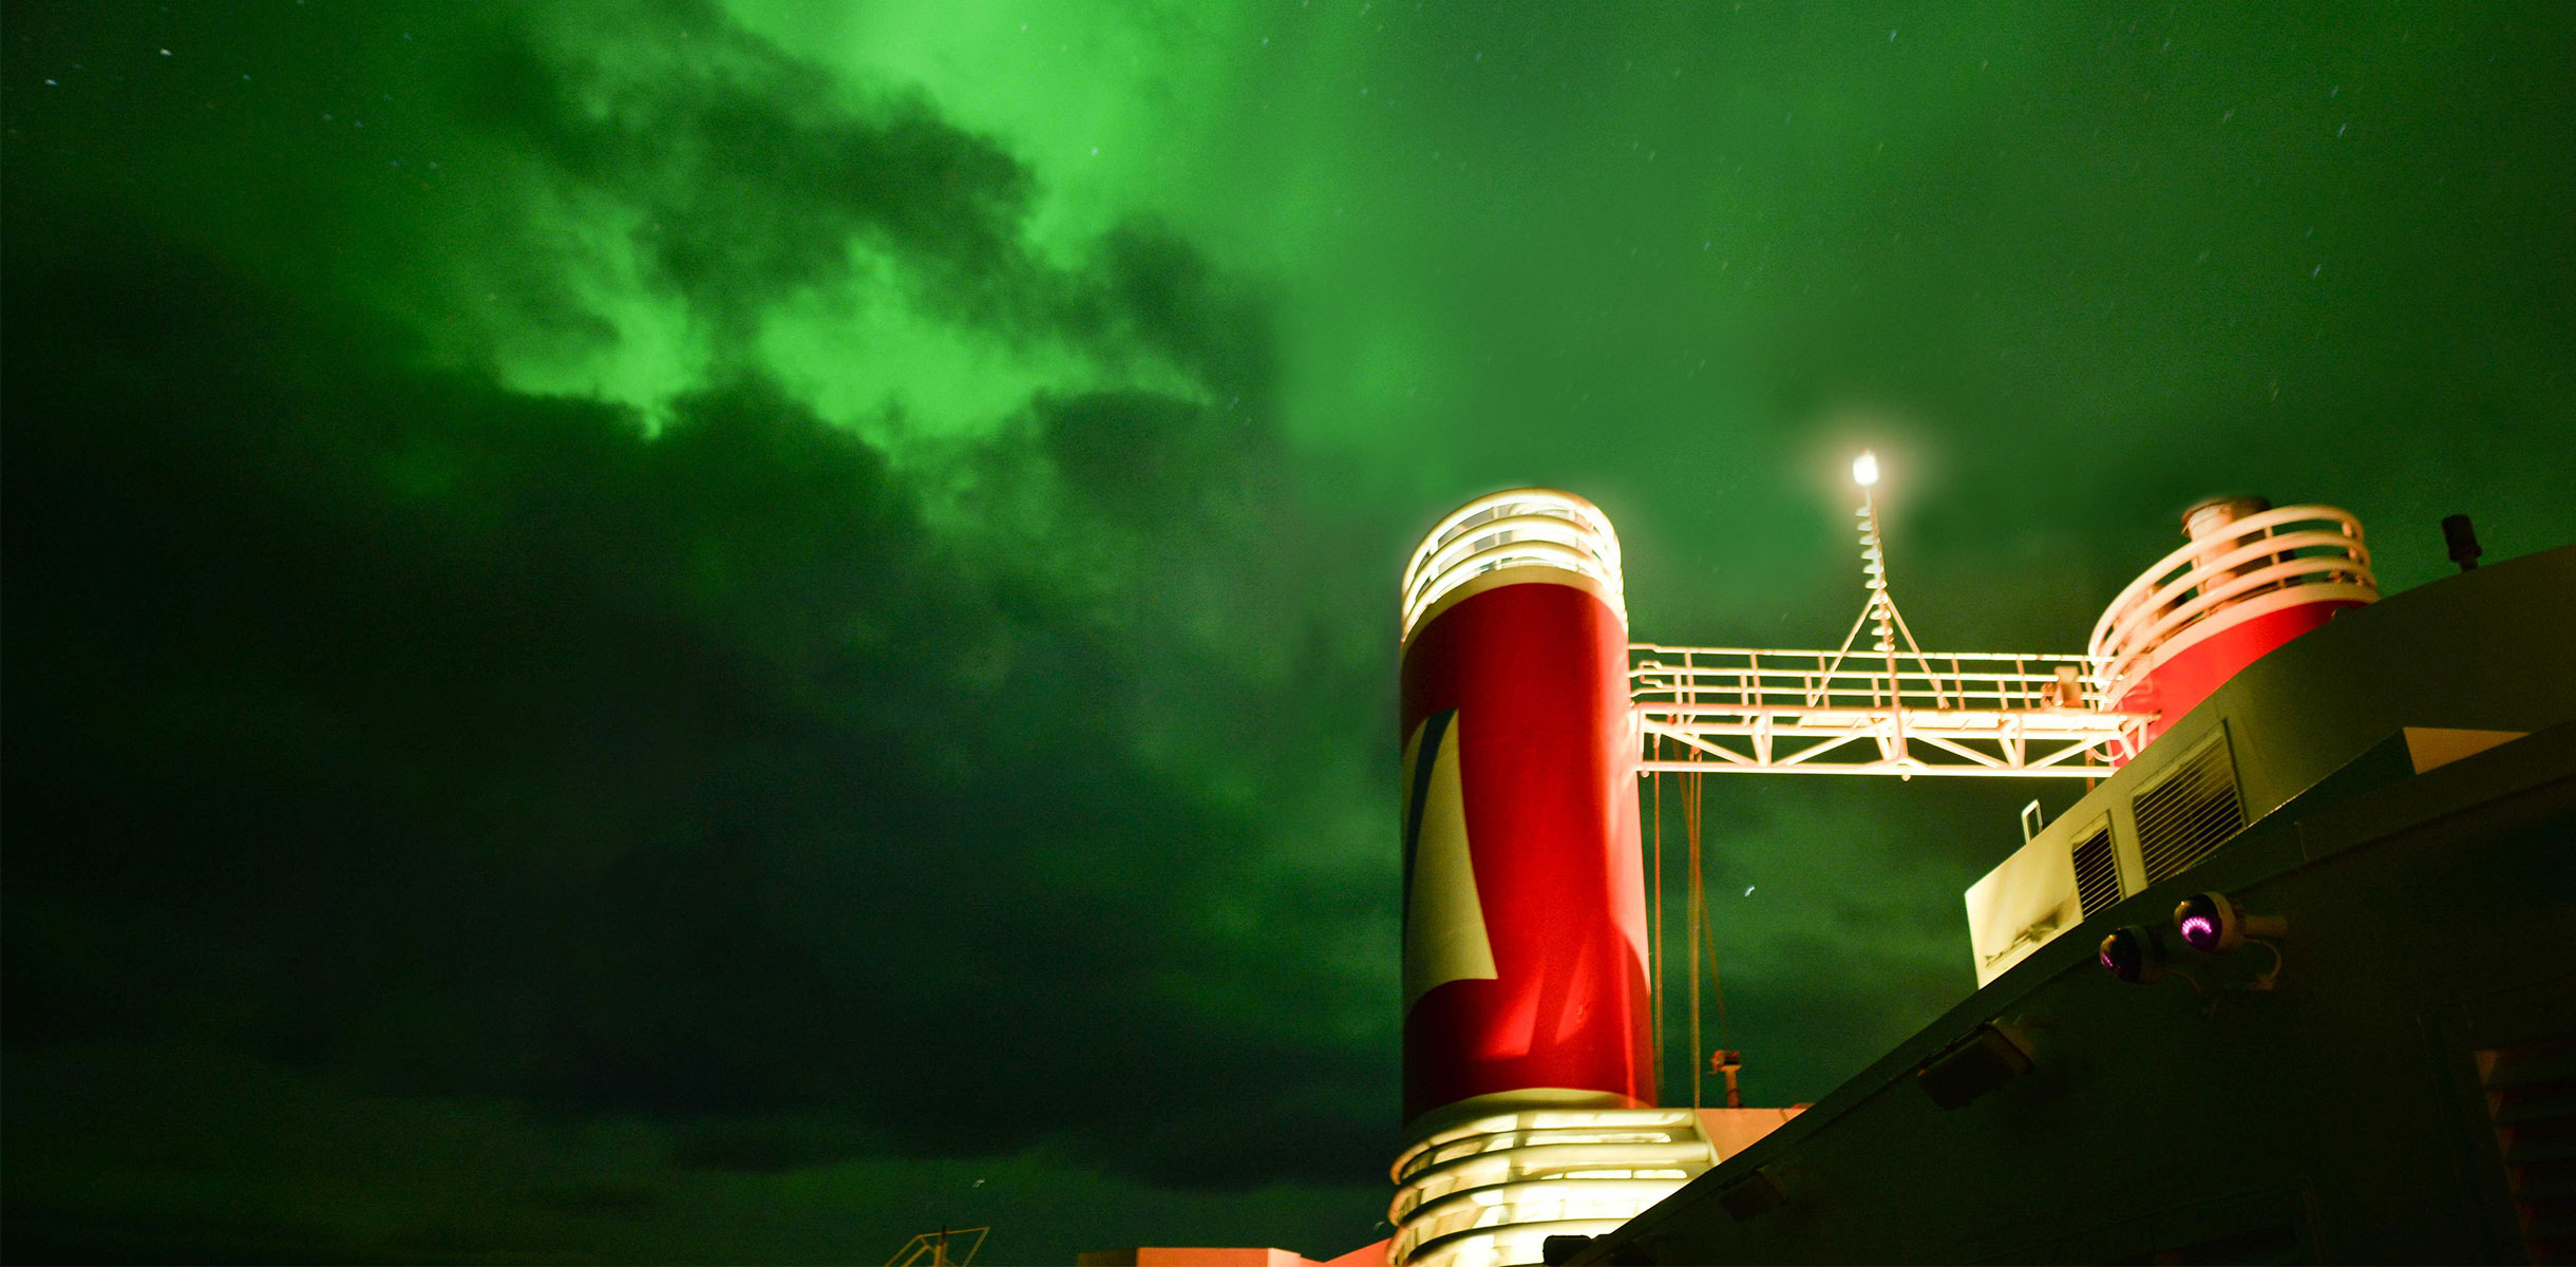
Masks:
[[[2107,708],[2099,664],[2007,652],[1628,646],[1646,773],[2102,778],[2156,713]],[[1852,744],[1862,744],[1852,749]]]

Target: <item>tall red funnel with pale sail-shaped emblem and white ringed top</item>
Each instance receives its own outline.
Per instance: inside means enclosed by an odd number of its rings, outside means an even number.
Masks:
[[[1404,1115],[1654,1105],[1618,533],[1479,497],[1404,572]]]

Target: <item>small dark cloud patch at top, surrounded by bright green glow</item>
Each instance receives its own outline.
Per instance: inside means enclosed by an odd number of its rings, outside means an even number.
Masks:
[[[654,273],[737,335],[840,278],[853,245],[925,268],[925,296],[981,317],[1025,296],[1030,173],[917,95],[853,113],[819,67],[703,5],[554,36],[477,44],[453,88],[464,113],[631,209]]]

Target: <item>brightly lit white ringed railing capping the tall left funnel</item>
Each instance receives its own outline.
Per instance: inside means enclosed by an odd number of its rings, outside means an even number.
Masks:
[[[1618,533],[1597,505],[1556,489],[1510,489],[1450,510],[1404,567],[1404,639],[1450,590],[1504,567],[1556,567],[1602,585],[1628,618]]]

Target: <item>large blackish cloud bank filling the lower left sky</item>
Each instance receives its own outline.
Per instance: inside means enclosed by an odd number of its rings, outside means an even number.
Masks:
[[[15,363],[95,363],[82,299],[160,358],[10,384],[10,690],[49,726],[10,765],[13,873],[36,904],[144,904],[196,966],[67,981],[44,930],[88,914],[13,922],[15,1035],[98,1038],[85,999],[160,1033],[211,994],[286,1061],[647,1112],[850,1105],[920,1146],[1175,1092],[1200,1105],[1175,1118],[1260,1115],[1226,1087],[1278,1064],[1368,1084],[1368,1058],[1154,1002],[1180,906],[1244,883],[1208,842],[1255,824],[1136,767],[1079,700],[1146,664],[945,556],[850,435],[744,384],[647,440],[355,368],[355,340],[183,260],[152,276],[18,281],[57,322],[13,330]],[[340,368],[286,386],[317,363]],[[1072,417],[1190,461],[1185,407]],[[961,708],[935,667],[994,639],[1012,664]],[[1056,1112],[1018,1107],[1033,1087]],[[1247,1161],[1170,1131],[1136,1141],[1167,1177]]]

